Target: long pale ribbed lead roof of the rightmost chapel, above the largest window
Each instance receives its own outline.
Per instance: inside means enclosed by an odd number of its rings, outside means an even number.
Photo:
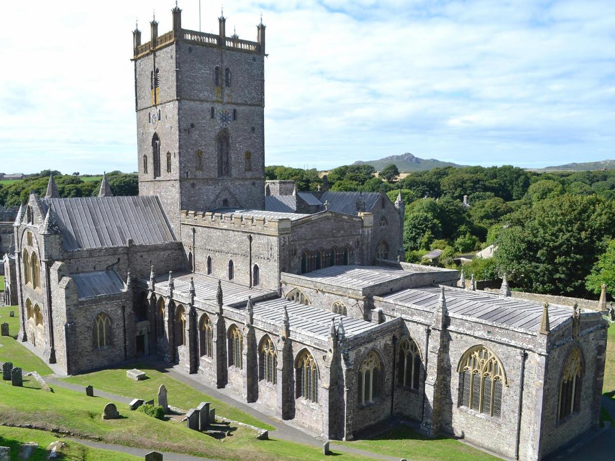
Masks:
[[[542,318],[542,305],[538,302],[525,301],[517,298],[502,298],[489,296],[477,291],[454,290],[445,288],[446,307],[448,312],[467,317],[487,320],[515,328],[538,331]],[[418,305],[435,309],[440,296],[440,288],[426,286],[409,288],[383,296],[383,299],[400,305]],[[572,310],[564,307],[549,307],[549,321],[553,329],[567,318]]]

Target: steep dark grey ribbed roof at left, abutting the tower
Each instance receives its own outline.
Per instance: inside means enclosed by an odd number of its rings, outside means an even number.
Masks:
[[[52,208],[66,251],[176,240],[158,197],[41,199]]]

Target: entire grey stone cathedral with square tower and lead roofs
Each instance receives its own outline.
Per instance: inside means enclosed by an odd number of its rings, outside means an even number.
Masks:
[[[172,17],[133,31],[139,195],[51,177],[17,213],[20,341],[67,374],[159,357],[323,438],[400,417],[539,460],[598,426],[599,312],[403,262],[400,195],[265,181],[265,26]]]

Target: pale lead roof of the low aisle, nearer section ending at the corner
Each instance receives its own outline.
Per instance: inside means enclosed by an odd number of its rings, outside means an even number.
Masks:
[[[362,333],[376,326],[369,321],[347,317],[347,315],[335,314],[330,310],[319,309],[311,305],[299,304],[285,297],[255,302],[253,305],[254,317],[262,318],[263,320],[268,320],[280,325],[284,317],[284,306],[286,306],[288,312],[288,323],[291,329],[305,331],[325,338],[329,334],[331,318],[335,318],[336,327],[339,318],[343,318],[344,330],[346,331],[345,334],[347,337]]]

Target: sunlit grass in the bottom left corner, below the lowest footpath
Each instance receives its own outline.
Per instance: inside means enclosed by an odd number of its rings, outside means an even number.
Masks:
[[[47,459],[47,447],[55,441],[63,441],[60,459],[69,461],[137,461],[141,457],[116,451],[90,448],[72,440],[67,440],[52,433],[19,427],[0,427],[0,446],[10,447],[10,459],[17,460],[23,443],[35,442],[39,446],[30,457],[30,461]]]

